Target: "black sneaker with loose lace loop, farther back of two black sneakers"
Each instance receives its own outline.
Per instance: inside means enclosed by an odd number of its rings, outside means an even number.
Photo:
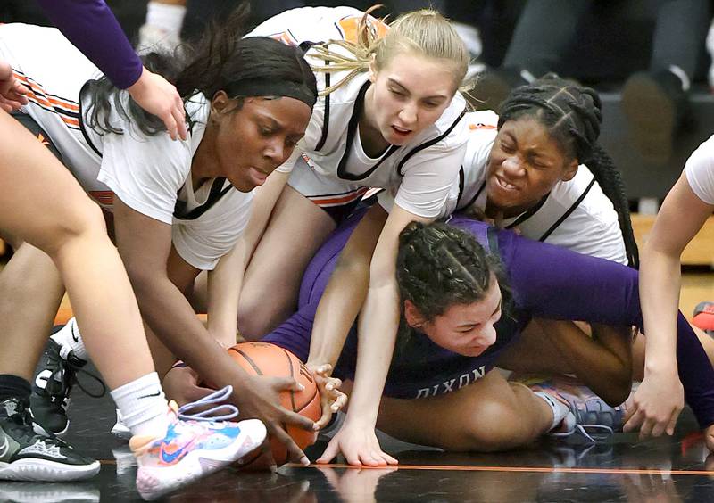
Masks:
[[[84,370],[82,367],[85,365],[87,365],[85,360],[77,358],[73,351],[62,348],[54,339],[47,342],[40,362],[40,371],[35,376],[32,394],[29,397],[29,408],[32,409],[37,433],[59,437],[67,433],[70,427],[67,408],[70,405],[72,387],[74,383],[79,384],[77,380],[79,371],[94,378],[102,388],[101,392],[92,393],[81,384],[79,387],[91,397],[104,396],[106,392],[104,383],[96,375]]]

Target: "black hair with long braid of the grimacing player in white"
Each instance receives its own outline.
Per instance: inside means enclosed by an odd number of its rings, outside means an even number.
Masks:
[[[498,128],[508,120],[533,117],[543,124],[566,155],[585,164],[618,212],[627,262],[638,268],[639,252],[625,186],[615,163],[597,143],[602,122],[600,109],[600,96],[594,89],[549,74],[511,92],[502,103]]]

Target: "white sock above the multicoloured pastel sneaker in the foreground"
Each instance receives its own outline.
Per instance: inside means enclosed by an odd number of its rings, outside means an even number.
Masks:
[[[169,403],[155,372],[113,390],[112,399],[132,435],[162,437],[166,433]]]

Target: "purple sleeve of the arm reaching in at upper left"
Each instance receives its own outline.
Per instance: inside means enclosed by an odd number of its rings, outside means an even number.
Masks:
[[[141,60],[104,0],[37,0],[62,35],[120,89],[141,77]]]

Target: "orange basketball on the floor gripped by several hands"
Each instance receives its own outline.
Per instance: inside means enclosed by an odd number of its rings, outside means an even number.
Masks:
[[[302,392],[281,392],[280,405],[313,421],[320,419],[320,393],[317,384],[307,367],[293,353],[267,342],[241,342],[228,348],[228,354],[248,374],[294,377],[305,389]],[[312,445],[317,439],[316,432],[297,426],[288,425],[286,432],[293,437],[300,449]],[[287,451],[283,444],[272,439],[270,449],[278,466],[283,465],[287,460]]]

